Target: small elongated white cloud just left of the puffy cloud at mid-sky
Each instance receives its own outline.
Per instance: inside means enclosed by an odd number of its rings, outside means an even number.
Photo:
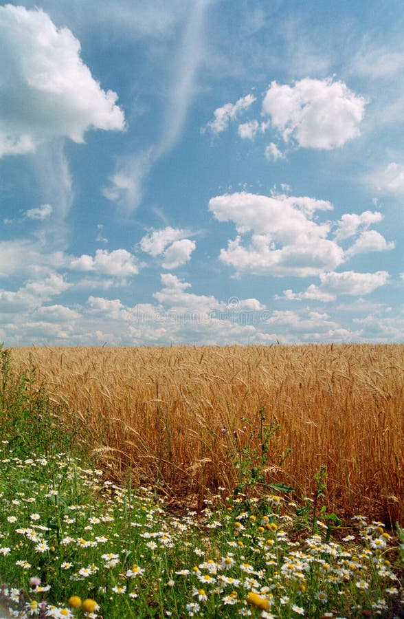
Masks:
[[[139,272],[139,263],[130,252],[118,249],[112,252],[98,249],[94,257],[82,254],[74,258],[69,268],[77,271],[93,271],[102,275],[112,275],[122,279],[136,275]]]

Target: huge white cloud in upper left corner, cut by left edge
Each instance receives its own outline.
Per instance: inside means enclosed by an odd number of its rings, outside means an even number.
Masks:
[[[92,128],[124,129],[117,95],[101,89],[79,41],[43,10],[1,6],[0,38],[0,157],[56,136],[83,142]]]

